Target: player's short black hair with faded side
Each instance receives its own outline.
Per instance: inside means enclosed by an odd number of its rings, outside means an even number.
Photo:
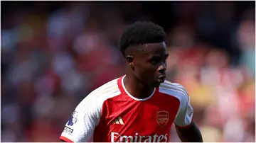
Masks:
[[[125,57],[124,51],[132,45],[164,42],[166,33],[159,25],[152,22],[137,21],[128,25],[119,40],[119,50]]]

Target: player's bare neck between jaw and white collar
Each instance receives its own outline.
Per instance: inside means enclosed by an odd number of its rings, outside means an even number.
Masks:
[[[124,87],[134,98],[139,99],[151,96],[154,91],[154,88],[143,84],[142,81],[139,81],[139,79],[132,74],[127,74],[124,77]]]

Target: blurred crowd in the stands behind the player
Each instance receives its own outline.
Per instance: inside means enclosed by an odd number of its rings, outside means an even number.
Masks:
[[[204,141],[255,142],[255,1],[1,1],[1,142],[59,142],[75,106],[125,73],[117,42],[138,20],[168,33],[168,79]]]

